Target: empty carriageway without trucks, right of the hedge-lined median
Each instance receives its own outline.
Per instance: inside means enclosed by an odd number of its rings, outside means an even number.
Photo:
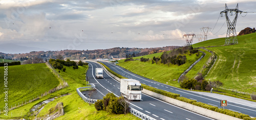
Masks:
[[[220,106],[220,99],[216,99],[216,98],[212,98],[212,97],[208,97],[205,95],[200,95],[197,93],[193,93],[190,91],[186,91],[184,89],[180,89],[177,87],[173,87],[167,84],[163,84],[145,77],[142,77],[140,75],[137,75],[135,73],[132,73],[129,70],[126,70],[120,66],[115,65],[114,63],[109,63],[109,62],[102,62],[104,65],[106,65],[107,67],[109,67],[112,71],[126,77],[126,78],[131,78],[131,79],[136,79],[139,80],[141,83],[146,84],[148,86],[152,86],[158,89],[163,89],[164,91],[168,91],[168,92],[172,92],[172,93],[176,93],[176,94],[180,94],[181,97],[185,97],[191,100],[196,100],[197,102],[202,102],[202,103],[206,103],[212,106],[217,106],[219,108],[223,108]],[[250,101],[248,101],[250,102]],[[244,114],[248,114],[251,117],[256,117],[256,107],[250,107],[248,105],[243,105],[240,103],[232,103],[228,101],[228,106],[225,107],[225,109],[229,109],[235,112],[241,112]]]

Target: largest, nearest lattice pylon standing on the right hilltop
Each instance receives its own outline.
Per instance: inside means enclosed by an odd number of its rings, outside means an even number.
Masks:
[[[226,21],[227,21],[227,35],[226,35],[225,45],[238,44],[236,24],[238,19],[238,13],[242,13],[242,12],[243,11],[238,9],[238,4],[236,9],[228,9],[227,4],[225,4],[225,10],[221,11],[221,17],[223,17],[223,13],[225,13]],[[231,16],[236,15],[232,22],[228,18],[228,13],[231,13]]]

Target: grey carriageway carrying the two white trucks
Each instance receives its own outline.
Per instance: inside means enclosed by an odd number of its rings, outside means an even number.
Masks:
[[[119,97],[121,94],[119,88],[120,83],[109,76],[105,71],[103,72],[104,78],[97,79],[95,77],[95,68],[101,68],[101,66],[94,62],[87,62],[89,63],[87,76],[90,78],[90,83],[95,84],[101,98],[108,93],[114,93]],[[142,101],[130,101],[130,106],[155,119],[212,119],[145,94],[142,94]]]

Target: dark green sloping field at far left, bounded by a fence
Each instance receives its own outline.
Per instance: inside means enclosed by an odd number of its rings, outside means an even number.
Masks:
[[[0,67],[0,76],[2,85],[0,92],[4,90],[4,67]],[[41,94],[59,84],[57,78],[51,73],[45,64],[29,64],[8,66],[8,104],[18,106],[36,98]],[[3,108],[4,96],[0,97],[0,107]]]

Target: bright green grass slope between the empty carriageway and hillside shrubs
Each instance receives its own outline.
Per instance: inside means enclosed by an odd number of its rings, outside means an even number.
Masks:
[[[163,52],[156,53],[156,54],[150,54],[145,56],[139,56],[139,57],[133,57],[133,59],[140,59],[141,57],[144,58],[153,58],[160,57]],[[186,63],[178,66],[170,64],[168,65],[161,64],[158,62],[158,64],[154,63],[152,64],[152,61],[148,62],[140,62],[139,60],[136,61],[129,61],[124,62],[124,59],[118,61],[119,66],[132,71],[133,73],[136,73],[138,75],[144,76],[149,79],[154,79],[156,81],[165,83],[168,82],[169,85],[180,87],[178,81],[173,81],[173,79],[178,79],[180,75],[191,65],[193,64],[198,58],[200,58],[202,53],[200,52],[199,56],[196,56],[196,54],[192,54],[187,56]]]

